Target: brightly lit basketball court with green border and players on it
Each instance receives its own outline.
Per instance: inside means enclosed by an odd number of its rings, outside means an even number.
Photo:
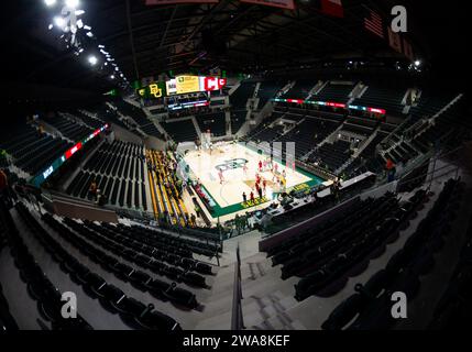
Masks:
[[[263,208],[268,206],[281,191],[301,189],[323,182],[315,175],[299,168],[286,167],[279,162],[273,161],[271,165],[267,155],[237,143],[213,145],[211,151],[190,151],[185,155],[184,161],[193,176],[216,202],[217,216],[256,206]],[[263,164],[262,172],[259,169],[260,162]],[[257,175],[261,178],[261,188],[265,180],[262,198],[259,197],[255,187]],[[281,179],[285,182],[281,184]],[[245,202],[243,193],[246,195]],[[254,195],[254,201],[251,201],[251,193]]]

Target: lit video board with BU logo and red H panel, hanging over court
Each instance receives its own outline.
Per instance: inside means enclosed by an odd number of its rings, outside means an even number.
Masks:
[[[157,81],[138,89],[138,95],[149,99],[160,99],[193,92],[220,90],[227,85],[226,78],[182,75],[167,81]]]

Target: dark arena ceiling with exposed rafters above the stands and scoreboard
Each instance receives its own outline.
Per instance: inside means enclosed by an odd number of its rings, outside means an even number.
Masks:
[[[130,81],[189,68],[238,73],[306,61],[395,56],[363,29],[369,8],[389,18],[397,4],[391,0],[343,0],[342,20],[322,14],[317,0],[298,0],[294,11],[238,0],[152,7],[144,0],[80,2],[97,43],[107,47]],[[113,85],[47,30],[52,19],[42,0],[10,1],[1,15],[7,64],[15,68],[6,70],[3,79],[88,89]],[[428,55],[425,33],[415,19],[409,25],[413,43]]]

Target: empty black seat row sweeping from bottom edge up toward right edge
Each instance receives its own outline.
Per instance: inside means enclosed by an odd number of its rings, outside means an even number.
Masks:
[[[442,250],[451,233],[462,187],[457,180],[446,183],[427,217],[396,252],[385,268],[376,272],[356,293],[343,300],[323,322],[322,329],[392,329],[392,294],[405,293],[413,301],[421,288],[421,276],[435,268],[433,254]]]

